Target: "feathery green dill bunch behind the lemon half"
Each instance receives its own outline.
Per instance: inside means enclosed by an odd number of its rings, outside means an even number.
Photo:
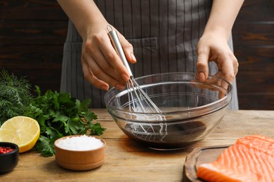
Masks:
[[[0,72],[0,126],[14,116],[30,115],[31,84],[2,69]]]

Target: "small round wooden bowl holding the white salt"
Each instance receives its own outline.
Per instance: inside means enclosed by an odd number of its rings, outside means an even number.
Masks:
[[[67,137],[76,137],[80,135],[72,135]],[[103,146],[89,151],[70,151],[64,148],[58,147],[58,142],[67,137],[62,137],[54,142],[56,149],[56,162],[65,169],[71,169],[75,171],[85,171],[100,167],[105,162],[105,148],[106,142],[99,137],[103,142]],[[89,136],[93,137],[93,136]]]

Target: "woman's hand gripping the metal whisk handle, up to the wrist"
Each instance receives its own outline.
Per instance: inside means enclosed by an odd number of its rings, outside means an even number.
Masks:
[[[108,90],[109,85],[122,90],[129,80],[129,73],[113,48],[107,33],[107,23],[105,23],[96,25],[84,37],[81,52],[84,78],[91,85],[103,90]],[[132,45],[118,31],[117,34],[126,58],[129,62],[135,63]]]

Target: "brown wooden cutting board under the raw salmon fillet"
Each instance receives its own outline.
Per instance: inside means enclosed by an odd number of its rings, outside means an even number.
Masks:
[[[228,148],[228,145],[195,148],[185,158],[185,165],[183,167],[183,181],[202,181],[201,179],[197,179],[196,176],[198,167],[204,163],[215,161],[218,158],[218,155],[220,155],[226,148]]]

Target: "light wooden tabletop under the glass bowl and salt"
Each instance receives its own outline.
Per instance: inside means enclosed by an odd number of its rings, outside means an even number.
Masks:
[[[93,109],[107,130],[105,163],[98,169],[74,172],[35,151],[22,153],[13,172],[1,181],[182,181],[185,157],[194,148],[233,144],[237,138],[261,134],[274,138],[274,111],[228,111],[221,124],[203,141],[180,151],[152,151],[119,130],[105,109]],[[0,161],[1,162],[1,161]]]

